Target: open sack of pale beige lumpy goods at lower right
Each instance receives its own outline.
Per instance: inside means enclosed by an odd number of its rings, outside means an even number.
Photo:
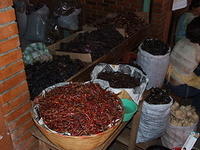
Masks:
[[[199,116],[193,107],[175,102],[171,107],[168,127],[161,137],[162,144],[168,148],[182,147],[190,133],[196,130],[198,122]]]

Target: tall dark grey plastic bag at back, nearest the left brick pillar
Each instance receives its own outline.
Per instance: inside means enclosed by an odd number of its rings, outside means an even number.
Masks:
[[[48,19],[48,14],[49,8],[44,5],[36,12],[28,15],[25,39],[37,42],[44,42],[46,38],[46,23]]]

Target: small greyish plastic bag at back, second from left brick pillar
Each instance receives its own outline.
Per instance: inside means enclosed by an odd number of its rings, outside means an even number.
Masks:
[[[78,30],[78,15],[81,9],[75,9],[73,13],[68,16],[58,17],[58,25],[69,30]]]

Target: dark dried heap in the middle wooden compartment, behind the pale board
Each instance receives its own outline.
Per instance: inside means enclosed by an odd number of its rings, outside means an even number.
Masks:
[[[69,43],[61,43],[58,51],[91,53],[92,59],[95,60],[108,53],[122,40],[123,36],[117,30],[105,27],[92,32],[81,33]]]

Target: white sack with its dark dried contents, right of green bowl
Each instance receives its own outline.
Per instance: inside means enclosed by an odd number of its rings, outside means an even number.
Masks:
[[[137,143],[151,141],[163,135],[173,104],[169,93],[160,88],[151,88],[144,100]]]

